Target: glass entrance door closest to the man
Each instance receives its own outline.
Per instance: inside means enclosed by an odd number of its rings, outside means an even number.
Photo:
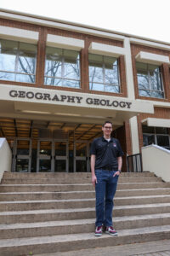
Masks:
[[[90,172],[89,142],[74,143],[74,172]]]

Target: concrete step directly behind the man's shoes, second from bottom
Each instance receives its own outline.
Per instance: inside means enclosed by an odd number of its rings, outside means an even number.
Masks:
[[[137,229],[156,225],[170,225],[170,213],[115,217],[115,229]],[[95,219],[75,219],[37,223],[0,224],[0,239],[32,236],[54,236],[94,232]]]

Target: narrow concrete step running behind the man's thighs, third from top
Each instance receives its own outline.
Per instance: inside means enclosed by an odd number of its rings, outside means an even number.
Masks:
[[[169,188],[168,183],[118,183],[117,189],[161,189]],[[79,184],[0,184],[0,192],[64,192],[94,190],[91,183]]]

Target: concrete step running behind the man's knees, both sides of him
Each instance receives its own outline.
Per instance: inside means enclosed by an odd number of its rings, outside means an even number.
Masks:
[[[143,195],[143,196],[127,196],[116,197],[114,200],[115,206],[123,205],[140,205],[151,203],[168,203],[170,195]],[[94,207],[95,199],[68,199],[68,200],[44,200],[44,201],[0,201],[0,212],[6,211],[26,211],[39,209],[69,209]]]

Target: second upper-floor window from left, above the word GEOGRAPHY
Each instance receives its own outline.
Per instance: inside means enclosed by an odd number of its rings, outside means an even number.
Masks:
[[[47,47],[44,84],[80,88],[79,52]]]

